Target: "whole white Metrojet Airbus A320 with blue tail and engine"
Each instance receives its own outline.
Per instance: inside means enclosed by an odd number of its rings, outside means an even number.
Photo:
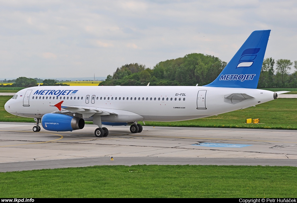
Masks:
[[[85,120],[108,136],[103,125],[138,121],[181,121],[218,115],[277,99],[278,92],[256,89],[270,30],[254,31],[219,76],[204,86],[37,86],[18,91],[5,104],[13,115],[34,118],[48,131],[83,129]],[[284,92],[279,92],[284,93]],[[57,110],[58,109],[58,110]]]

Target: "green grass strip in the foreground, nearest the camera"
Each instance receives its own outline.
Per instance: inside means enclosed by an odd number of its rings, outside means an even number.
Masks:
[[[289,166],[92,166],[0,173],[1,198],[292,198]]]

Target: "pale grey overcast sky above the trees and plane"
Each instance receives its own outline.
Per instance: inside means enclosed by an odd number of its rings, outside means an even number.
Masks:
[[[296,0],[0,0],[0,78],[106,77],[189,53],[229,62],[263,29],[265,58],[297,60]]]

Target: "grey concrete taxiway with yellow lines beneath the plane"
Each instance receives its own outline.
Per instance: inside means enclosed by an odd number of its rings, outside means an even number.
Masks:
[[[297,166],[297,131],[106,126],[33,132],[34,123],[0,122],[0,171],[91,165],[217,164]],[[113,158],[111,158],[113,157]],[[113,159],[113,160],[111,160]]]

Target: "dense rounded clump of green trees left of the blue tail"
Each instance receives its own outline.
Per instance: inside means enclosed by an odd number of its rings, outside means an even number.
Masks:
[[[153,69],[133,63],[116,69],[99,85],[206,85],[227,65],[225,61],[201,53],[159,62]]]

